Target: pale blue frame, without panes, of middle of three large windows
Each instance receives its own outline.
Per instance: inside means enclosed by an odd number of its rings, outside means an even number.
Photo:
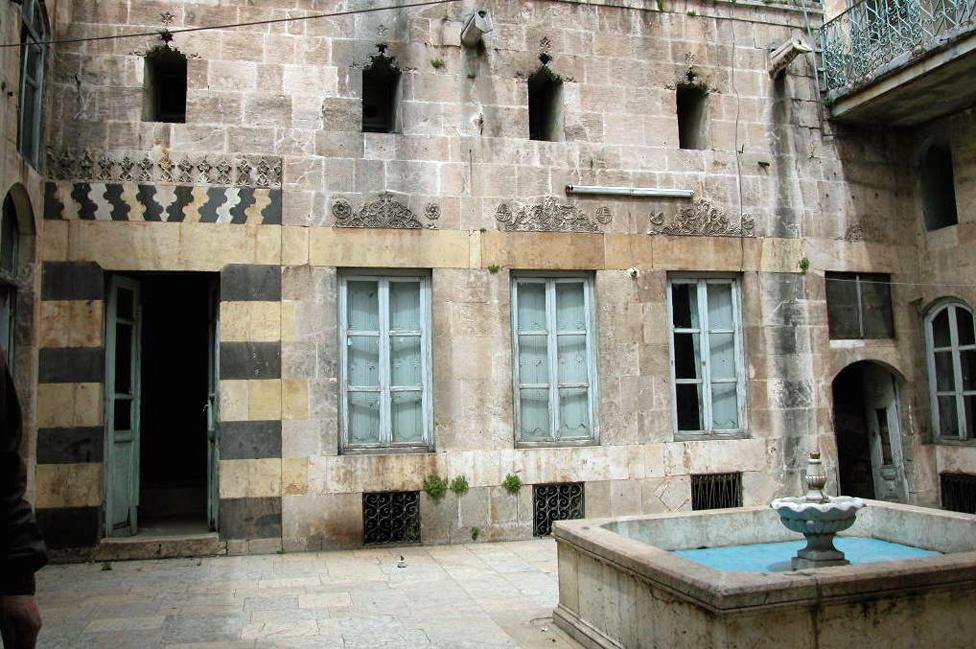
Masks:
[[[583,284],[583,309],[586,315],[586,376],[587,376],[587,401],[588,412],[590,415],[590,436],[589,437],[570,437],[561,438],[559,436],[559,374],[558,374],[558,348],[556,339],[558,332],[553,328],[551,322],[555,320],[556,304],[556,284],[559,283],[580,283]],[[549,368],[549,439],[544,440],[523,440],[522,439],[522,404],[520,397],[519,377],[519,335],[518,330],[518,287],[519,284],[544,284],[546,291],[546,358]],[[596,337],[596,295],[594,290],[593,273],[587,272],[546,272],[546,271],[520,271],[513,272],[511,278],[511,301],[512,301],[512,402],[514,409],[514,434],[516,448],[533,447],[569,447],[569,446],[595,446],[600,443],[600,424],[598,408],[598,355]],[[552,318],[552,320],[550,319]],[[524,334],[524,332],[522,332]],[[566,332],[563,332],[564,334]],[[568,335],[579,335],[578,332]],[[553,380],[555,378],[555,380]],[[567,384],[563,387],[573,387],[578,384]]]

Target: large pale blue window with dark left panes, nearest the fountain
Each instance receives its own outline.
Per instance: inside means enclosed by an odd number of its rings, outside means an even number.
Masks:
[[[741,432],[745,385],[738,281],[672,277],[668,302],[676,430]]]

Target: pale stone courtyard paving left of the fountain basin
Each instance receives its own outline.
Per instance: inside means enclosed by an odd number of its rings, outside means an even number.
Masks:
[[[549,539],[55,565],[38,647],[579,649],[557,598]]]

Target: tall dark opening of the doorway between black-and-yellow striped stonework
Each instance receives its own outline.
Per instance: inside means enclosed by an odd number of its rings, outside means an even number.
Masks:
[[[142,533],[207,529],[211,275],[139,275]]]

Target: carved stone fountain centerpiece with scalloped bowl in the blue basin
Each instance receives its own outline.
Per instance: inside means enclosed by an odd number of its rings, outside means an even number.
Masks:
[[[864,501],[851,496],[824,495],[827,474],[817,451],[810,453],[804,478],[806,496],[776,498],[769,504],[779,514],[783,525],[807,539],[806,547],[796,553],[791,565],[794,570],[845,566],[850,562],[834,547],[834,535],[854,524],[857,510],[864,507]]]

